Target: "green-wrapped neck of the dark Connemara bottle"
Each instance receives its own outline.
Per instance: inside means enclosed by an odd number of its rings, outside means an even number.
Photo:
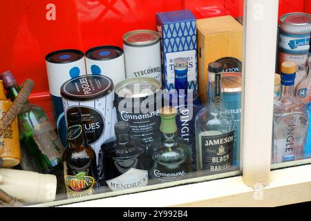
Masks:
[[[173,141],[177,138],[176,115],[161,116],[160,136],[162,141]]]

